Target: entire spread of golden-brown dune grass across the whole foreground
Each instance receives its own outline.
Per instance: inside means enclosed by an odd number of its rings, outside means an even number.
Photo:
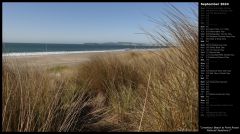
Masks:
[[[2,130],[196,131],[197,23],[172,8],[168,24],[153,19],[170,36],[145,30],[169,48],[92,57],[71,77],[4,60]]]

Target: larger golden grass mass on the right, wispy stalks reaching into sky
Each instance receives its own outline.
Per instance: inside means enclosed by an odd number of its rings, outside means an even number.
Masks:
[[[169,48],[94,57],[79,69],[78,83],[104,94],[111,109],[107,121],[118,131],[198,130],[197,19],[172,9],[167,24],[152,18],[160,29],[144,33]]]

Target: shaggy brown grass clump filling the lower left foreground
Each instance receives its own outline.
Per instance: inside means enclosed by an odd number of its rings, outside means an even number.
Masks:
[[[2,77],[3,131],[79,131],[104,109],[70,79],[52,78],[38,67],[4,61]]]

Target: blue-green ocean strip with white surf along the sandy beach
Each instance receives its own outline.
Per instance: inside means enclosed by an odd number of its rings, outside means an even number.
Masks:
[[[83,44],[50,44],[50,43],[3,43],[3,56],[48,55],[65,53],[89,53],[108,51],[128,51],[157,49],[138,43],[83,43]]]

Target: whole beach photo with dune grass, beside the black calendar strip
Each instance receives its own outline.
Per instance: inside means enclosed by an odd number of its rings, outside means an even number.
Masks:
[[[2,131],[198,131],[198,3],[2,11]]]

